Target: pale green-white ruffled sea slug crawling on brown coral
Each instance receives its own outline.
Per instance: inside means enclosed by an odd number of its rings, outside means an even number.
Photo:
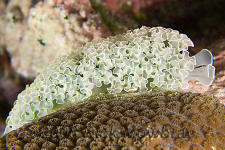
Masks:
[[[215,68],[204,49],[190,57],[192,41],[176,30],[142,27],[87,43],[60,57],[18,95],[5,133],[98,93],[182,90],[189,80],[210,85]]]

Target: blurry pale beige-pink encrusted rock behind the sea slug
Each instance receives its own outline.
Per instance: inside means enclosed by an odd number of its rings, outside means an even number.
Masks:
[[[88,1],[79,5],[70,11],[53,0],[9,1],[0,34],[17,72],[33,78],[54,58],[110,34]]]

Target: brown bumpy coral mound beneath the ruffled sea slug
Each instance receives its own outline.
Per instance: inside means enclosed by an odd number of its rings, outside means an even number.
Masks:
[[[166,105],[163,107],[166,107],[167,104],[171,103],[171,97],[175,96],[178,98],[174,102],[180,104],[180,110],[183,110],[187,105],[194,106],[193,101],[197,101],[196,107],[199,113],[190,116],[182,111],[174,112],[173,108],[169,108],[168,112],[159,115],[158,108],[151,107],[151,103],[155,100],[158,103],[165,103]],[[185,103],[186,96],[190,97],[188,103]],[[204,102],[198,105],[201,103],[198,101],[202,100]],[[146,104],[142,110],[135,109],[142,107],[142,104],[138,104],[139,101]],[[124,108],[124,111],[119,112],[113,109],[118,105],[127,104],[130,104],[131,107]],[[103,107],[95,107],[100,105],[108,106],[104,109],[114,114],[121,113],[121,116],[115,120],[108,115],[104,122],[96,120],[97,116],[102,116],[99,110]],[[208,113],[202,113],[202,109],[207,110],[206,105],[213,109],[209,109]],[[83,108],[82,113],[77,111],[80,108]],[[220,104],[218,99],[193,93],[173,91],[98,95],[7,133],[0,138],[0,149],[6,149],[6,147],[8,149],[60,149],[63,147],[64,149],[215,148],[222,150],[225,148],[224,123],[218,122],[215,127],[211,121],[207,121],[211,120],[212,116],[217,120],[224,120],[224,111],[219,116],[215,114],[221,109],[225,110],[225,106]],[[77,122],[77,120],[82,120],[86,116],[85,114],[90,111],[93,112],[94,116],[89,117],[88,122]],[[144,117],[145,113],[143,112],[148,111],[151,111],[152,115]],[[129,119],[126,117],[128,114]],[[65,122],[68,122],[67,116],[76,116],[71,117],[69,128],[65,125]],[[57,123],[52,123],[52,120],[57,120]],[[91,124],[94,120],[97,121],[97,126]],[[176,124],[174,124],[174,120],[177,120]]]

